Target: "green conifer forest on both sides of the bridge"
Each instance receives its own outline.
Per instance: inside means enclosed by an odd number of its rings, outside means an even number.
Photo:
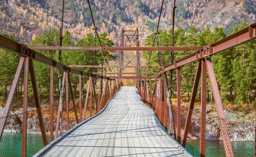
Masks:
[[[233,27],[233,33],[243,29],[248,25],[247,21],[243,21]],[[159,31],[159,46],[171,46],[172,30],[169,31]],[[59,44],[59,31],[51,30],[44,31],[41,36],[35,37],[30,45],[47,45],[47,46],[57,46]],[[7,35],[8,38],[19,42],[19,39],[15,35]],[[222,38],[225,38],[226,33],[222,27],[215,27],[213,31],[207,27],[201,32],[195,27],[191,26],[189,31],[185,31],[181,27],[177,28],[174,33],[175,46],[204,46],[209,43],[216,42]],[[99,35],[102,46],[113,46],[114,43],[108,38],[107,33],[101,33]],[[152,46],[155,33],[149,35],[144,46]],[[99,46],[98,40],[96,40],[96,45]],[[94,37],[92,34],[88,34],[86,38],[78,40],[74,43],[71,40],[70,32],[65,31],[63,35],[63,46],[94,46]],[[58,61],[57,51],[38,51],[47,57],[53,58]],[[186,55],[189,55],[193,51],[175,51],[175,60],[178,60]],[[115,60],[116,56],[113,56],[109,51],[105,52],[107,54],[107,60]],[[149,58],[150,51],[141,52],[145,60],[143,64]],[[162,66],[170,63],[170,51],[161,51],[159,55],[159,61]],[[16,72],[18,65],[19,56],[0,49],[0,99],[3,102],[7,99],[7,95]],[[247,108],[254,108],[256,103],[256,42],[251,41],[246,44],[242,44],[233,49],[223,51],[218,55],[211,57],[213,61],[213,67],[216,73],[216,78],[221,94],[221,98],[224,104],[231,104],[235,108],[239,108],[240,105],[245,105]],[[103,65],[103,53],[101,51],[97,52],[97,63],[98,65]],[[93,65],[94,64],[94,51],[63,51],[61,62],[66,65]],[[149,65],[159,65],[157,52],[153,51],[150,64]],[[38,80],[38,89],[40,97],[44,97],[45,102],[49,98],[49,66],[44,65],[39,62],[34,62],[36,76]],[[182,74],[182,93],[185,96],[189,96],[192,90],[195,69],[197,62],[183,66],[181,69]],[[86,72],[92,73],[92,69],[79,69]],[[147,69],[142,69],[142,71],[148,71]],[[102,69],[98,69],[102,71]],[[153,72],[153,70],[149,70]],[[154,71],[157,72],[157,71]],[[175,74],[175,71],[174,71]],[[58,75],[58,71],[54,71],[54,76]],[[78,76],[71,75],[72,86],[74,89],[74,95],[78,96],[77,88],[79,84]],[[17,88],[16,100],[22,98],[22,83],[23,74],[19,86]],[[168,78],[169,80],[169,78]],[[86,84],[88,78],[83,79],[83,84]],[[173,91],[175,93],[175,76],[172,82]],[[207,100],[210,101],[211,97],[211,87],[209,85],[209,80],[207,81]],[[55,94],[58,95],[58,78],[54,77],[54,88]],[[84,90],[85,92],[85,90]],[[198,88],[198,93],[200,92],[200,87]],[[31,85],[29,85],[29,96],[33,97]],[[175,95],[174,95],[175,97]]]

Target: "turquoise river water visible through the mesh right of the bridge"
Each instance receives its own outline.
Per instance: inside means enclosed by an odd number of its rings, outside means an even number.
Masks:
[[[254,157],[254,141],[231,142],[235,157]],[[200,157],[200,140],[189,140],[186,150],[193,157]],[[206,140],[206,157],[225,157],[222,141]]]

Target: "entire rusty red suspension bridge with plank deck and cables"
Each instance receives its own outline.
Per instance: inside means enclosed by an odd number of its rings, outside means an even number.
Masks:
[[[163,2],[164,0],[162,7]],[[89,0],[88,4],[92,15]],[[93,15],[94,39],[95,41],[99,40],[100,47],[62,46],[62,27],[59,46],[28,47],[0,35],[0,48],[20,55],[16,75],[13,78],[3,115],[0,118],[0,156],[256,157],[255,127],[244,128],[240,124],[225,119],[211,62],[212,55],[256,39],[256,23],[203,47],[176,47],[173,44],[169,47],[159,47],[158,27],[162,7],[152,47],[139,46],[138,29],[122,30],[121,46],[103,47]],[[173,19],[175,8],[174,1]],[[126,34],[127,32],[134,34]],[[136,45],[134,47],[124,45],[125,39],[128,39],[129,42],[132,40],[128,36],[135,37]],[[155,41],[157,46],[154,46]],[[36,50],[59,51],[59,62],[36,52]],[[105,56],[105,64],[96,65],[96,55],[94,55],[94,65],[64,65],[61,64],[61,51],[63,50],[87,50],[94,51],[94,54],[96,51],[102,51]],[[108,64],[104,51],[119,51],[120,57],[116,62],[117,65]],[[131,64],[130,60],[127,65],[124,65],[124,57],[126,57],[124,51],[137,52],[135,66],[128,65]],[[170,64],[162,66],[159,61],[158,66],[150,66],[149,57],[147,65],[142,66],[140,51],[151,51],[151,53],[157,51],[158,54],[159,51],[171,51]],[[180,60],[173,60],[173,51],[195,52]],[[49,66],[49,106],[42,106],[40,103],[34,61]],[[183,108],[181,106],[180,71],[182,66],[192,62],[198,62],[198,66],[189,108]],[[105,71],[86,73],[76,68],[103,68]],[[109,72],[106,72],[107,68]],[[124,69],[127,68],[136,69],[136,72],[124,73]],[[158,72],[143,72],[142,68],[145,71],[153,68]],[[56,77],[54,69],[59,71],[60,100],[57,103],[54,102],[53,95],[54,77]],[[112,69],[118,70],[113,72]],[[170,86],[175,69],[177,104],[173,104],[171,101],[173,89]],[[171,71],[169,82],[167,80],[168,71]],[[23,113],[11,114],[13,97],[22,72],[24,72]],[[74,97],[71,74],[79,76],[78,100]],[[206,115],[207,76],[211,83],[218,117]],[[89,77],[85,98],[81,94],[83,90],[82,77]],[[123,86],[126,79],[136,80],[136,87]],[[28,110],[29,80],[33,87],[36,104],[36,109],[32,111]],[[99,84],[95,83],[97,81]],[[199,84],[201,84],[201,111],[195,111],[194,104]],[[65,96],[63,96],[64,89]],[[216,119],[216,123],[213,124],[212,119]],[[32,130],[28,127],[29,125],[33,125]],[[10,126],[15,126],[19,134],[13,133]],[[238,135],[239,131],[243,132],[243,135]]]

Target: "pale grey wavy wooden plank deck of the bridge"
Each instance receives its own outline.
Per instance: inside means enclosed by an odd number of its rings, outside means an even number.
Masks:
[[[157,124],[135,87],[121,87],[105,111],[59,140],[45,157],[188,157]]]

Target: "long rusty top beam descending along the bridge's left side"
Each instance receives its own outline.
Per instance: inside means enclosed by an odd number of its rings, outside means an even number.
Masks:
[[[33,60],[36,60],[38,62],[47,64],[49,66],[54,66],[57,69],[61,69],[63,71],[68,71],[70,73],[74,73],[77,75],[83,75],[83,76],[89,76],[89,77],[95,77],[95,78],[102,78],[102,79],[109,79],[108,77],[105,76],[100,76],[100,75],[93,75],[91,73],[86,73],[83,71],[79,71],[76,69],[72,69],[70,67],[67,67],[66,65],[63,65],[59,62],[56,62],[55,60],[52,60],[49,57],[46,57],[45,55],[42,55],[32,49],[29,49],[27,46],[23,44],[19,44],[17,42],[14,42],[2,35],[0,35],[0,48],[14,52],[20,56],[23,57],[29,57]]]

